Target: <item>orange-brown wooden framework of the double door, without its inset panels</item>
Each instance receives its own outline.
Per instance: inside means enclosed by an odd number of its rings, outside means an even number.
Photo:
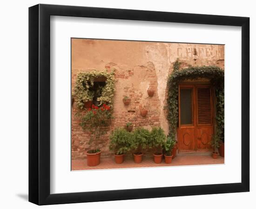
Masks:
[[[205,125],[198,125],[197,123],[197,115],[198,115],[198,111],[197,111],[197,87],[210,87],[210,93],[211,93],[211,124],[205,124]],[[193,123],[191,125],[181,125],[181,107],[180,107],[180,89],[186,89],[186,88],[192,88],[192,118],[193,118]],[[178,84],[178,127],[177,127],[177,140],[179,143],[179,131],[182,129],[189,129],[189,128],[193,128],[194,129],[194,149],[193,150],[180,150],[178,148],[178,152],[204,152],[204,151],[209,151],[211,149],[198,149],[197,148],[197,127],[199,128],[203,128],[203,127],[209,127],[212,126],[213,129],[213,133],[212,135],[215,133],[215,115],[216,115],[216,95],[215,95],[215,91],[214,91],[214,87],[213,85],[211,85],[210,82],[201,82],[201,81],[195,81],[195,82],[180,82]]]

